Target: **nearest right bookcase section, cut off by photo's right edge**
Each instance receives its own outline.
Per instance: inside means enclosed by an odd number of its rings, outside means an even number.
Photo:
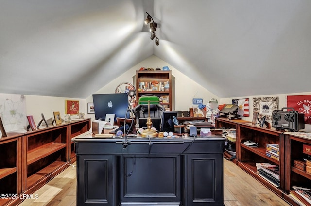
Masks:
[[[294,166],[294,160],[303,160],[308,158],[308,155],[303,153],[303,145],[311,145],[311,139],[288,134],[286,135],[286,188],[287,194],[293,190],[293,186],[304,187],[311,189],[311,173],[306,172],[305,168],[297,168]],[[296,204],[289,195],[285,195],[285,199],[292,205]]]

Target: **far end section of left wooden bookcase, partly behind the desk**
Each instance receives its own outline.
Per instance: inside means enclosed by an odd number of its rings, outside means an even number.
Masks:
[[[74,143],[71,141],[72,138],[78,136],[82,133],[87,132],[91,128],[90,119],[77,120],[69,124],[69,160],[74,162],[76,160],[76,155],[74,152]]]

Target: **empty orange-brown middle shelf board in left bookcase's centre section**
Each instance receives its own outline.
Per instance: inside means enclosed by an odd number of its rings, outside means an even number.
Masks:
[[[42,158],[45,158],[52,153],[61,150],[66,147],[65,143],[53,143],[49,146],[42,147],[40,149],[31,151],[27,154],[27,165],[34,163]]]

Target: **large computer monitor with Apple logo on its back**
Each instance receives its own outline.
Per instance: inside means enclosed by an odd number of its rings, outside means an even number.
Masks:
[[[125,118],[128,97],[126,93],[93,94],[93,103],[95,119],[105,120],[106,114],[115,114],[116,122],[117,117]],[[127,112],[126,118],[129,117],[130,114]]]

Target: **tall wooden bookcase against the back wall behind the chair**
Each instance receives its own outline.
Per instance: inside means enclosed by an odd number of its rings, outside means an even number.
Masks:
[[[141,97],[142,95],[155,95],[158,96],[160,99],[162,96],[169,96],[169,102],[161,102],[160,104],[167,107],[169,111],[173,111],[174,107],[173,107],[173,95],[172,95],[172,91],[174,88],[174,85],[172,83],[172,74],[171,71],[136,71],[136,100],[139,99],[139,97]],[[169,84],[169,88],[166,88],[165,91],[161,91],[161,86],[158,84],[157,86],[155,86],[154,88],[157,89],[157,91],[153,90],[151,85],[153,81],[157,81],[157,82],[167,82]],[[150,85],[150,89],[151,91],[145,91],[144,88],[142,88],[141,83],[145,82],[146,86]],[[147,86],[147,87],[148,87]],[[157,87],[157,88],[156,88]]]

